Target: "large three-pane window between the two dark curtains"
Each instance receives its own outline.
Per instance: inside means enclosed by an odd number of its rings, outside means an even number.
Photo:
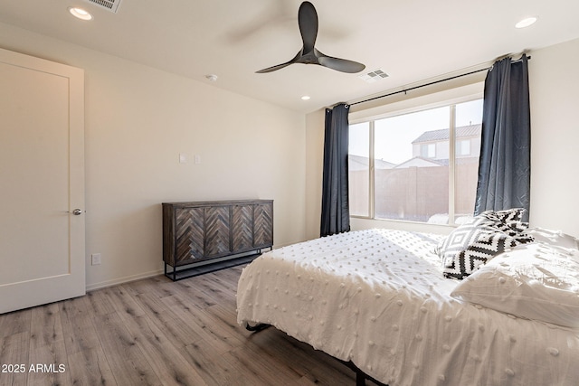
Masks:
[[[481,118],[476,99],[351,125],[350,214],[443,224],[470,217]]]

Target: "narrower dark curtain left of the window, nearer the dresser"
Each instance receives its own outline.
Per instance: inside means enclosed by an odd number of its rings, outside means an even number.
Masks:
[[[320,236],[350,230],[347,185],[349,106],[326,109]]]

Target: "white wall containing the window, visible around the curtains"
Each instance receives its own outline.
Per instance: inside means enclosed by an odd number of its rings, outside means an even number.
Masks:
[[[565,231],[579,237],[579,40],[557,44],[531,52],[529,89],[531,99],[531,203],[533,226]],[[384,91],[386,93],[386,91]],[[410,94],[410,93],[409,93]],[[389,99],[393,103],[397,99]],[[384,102],[383,102],[384,103]],[[371,110],[351,111],[350,120],[360,115],[382,113],[387,106],[370,106]],[[385,109],[384,109],[385,108]],[[319,121],[321,120],[321,124]],[[313,112],[307,118],[308,174],[321,175],[323,159],[323,115]],[[313,178],[308,184],[321,184]],[[313,195],[313,194],[316,195]],[[319,235],[321,187],[308,186],[308,238]],[[449,233],[446,226],[413,224],[401,221],[352,219],[352,229],[373,227],[411,231]],[[316,233],[317,231],[317,233]]]

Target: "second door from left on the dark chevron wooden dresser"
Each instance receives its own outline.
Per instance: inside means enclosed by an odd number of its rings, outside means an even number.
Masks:
[[[230,253],[229,206],[206,207],[205,211],[205,258],[225,256]]]

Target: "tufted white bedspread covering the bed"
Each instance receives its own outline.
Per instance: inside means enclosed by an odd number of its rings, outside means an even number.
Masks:
[[[243,269],[238,322],[266,323],[389,386],[579,385],[579,331],[450,297],[443,236],[352,231]]]

